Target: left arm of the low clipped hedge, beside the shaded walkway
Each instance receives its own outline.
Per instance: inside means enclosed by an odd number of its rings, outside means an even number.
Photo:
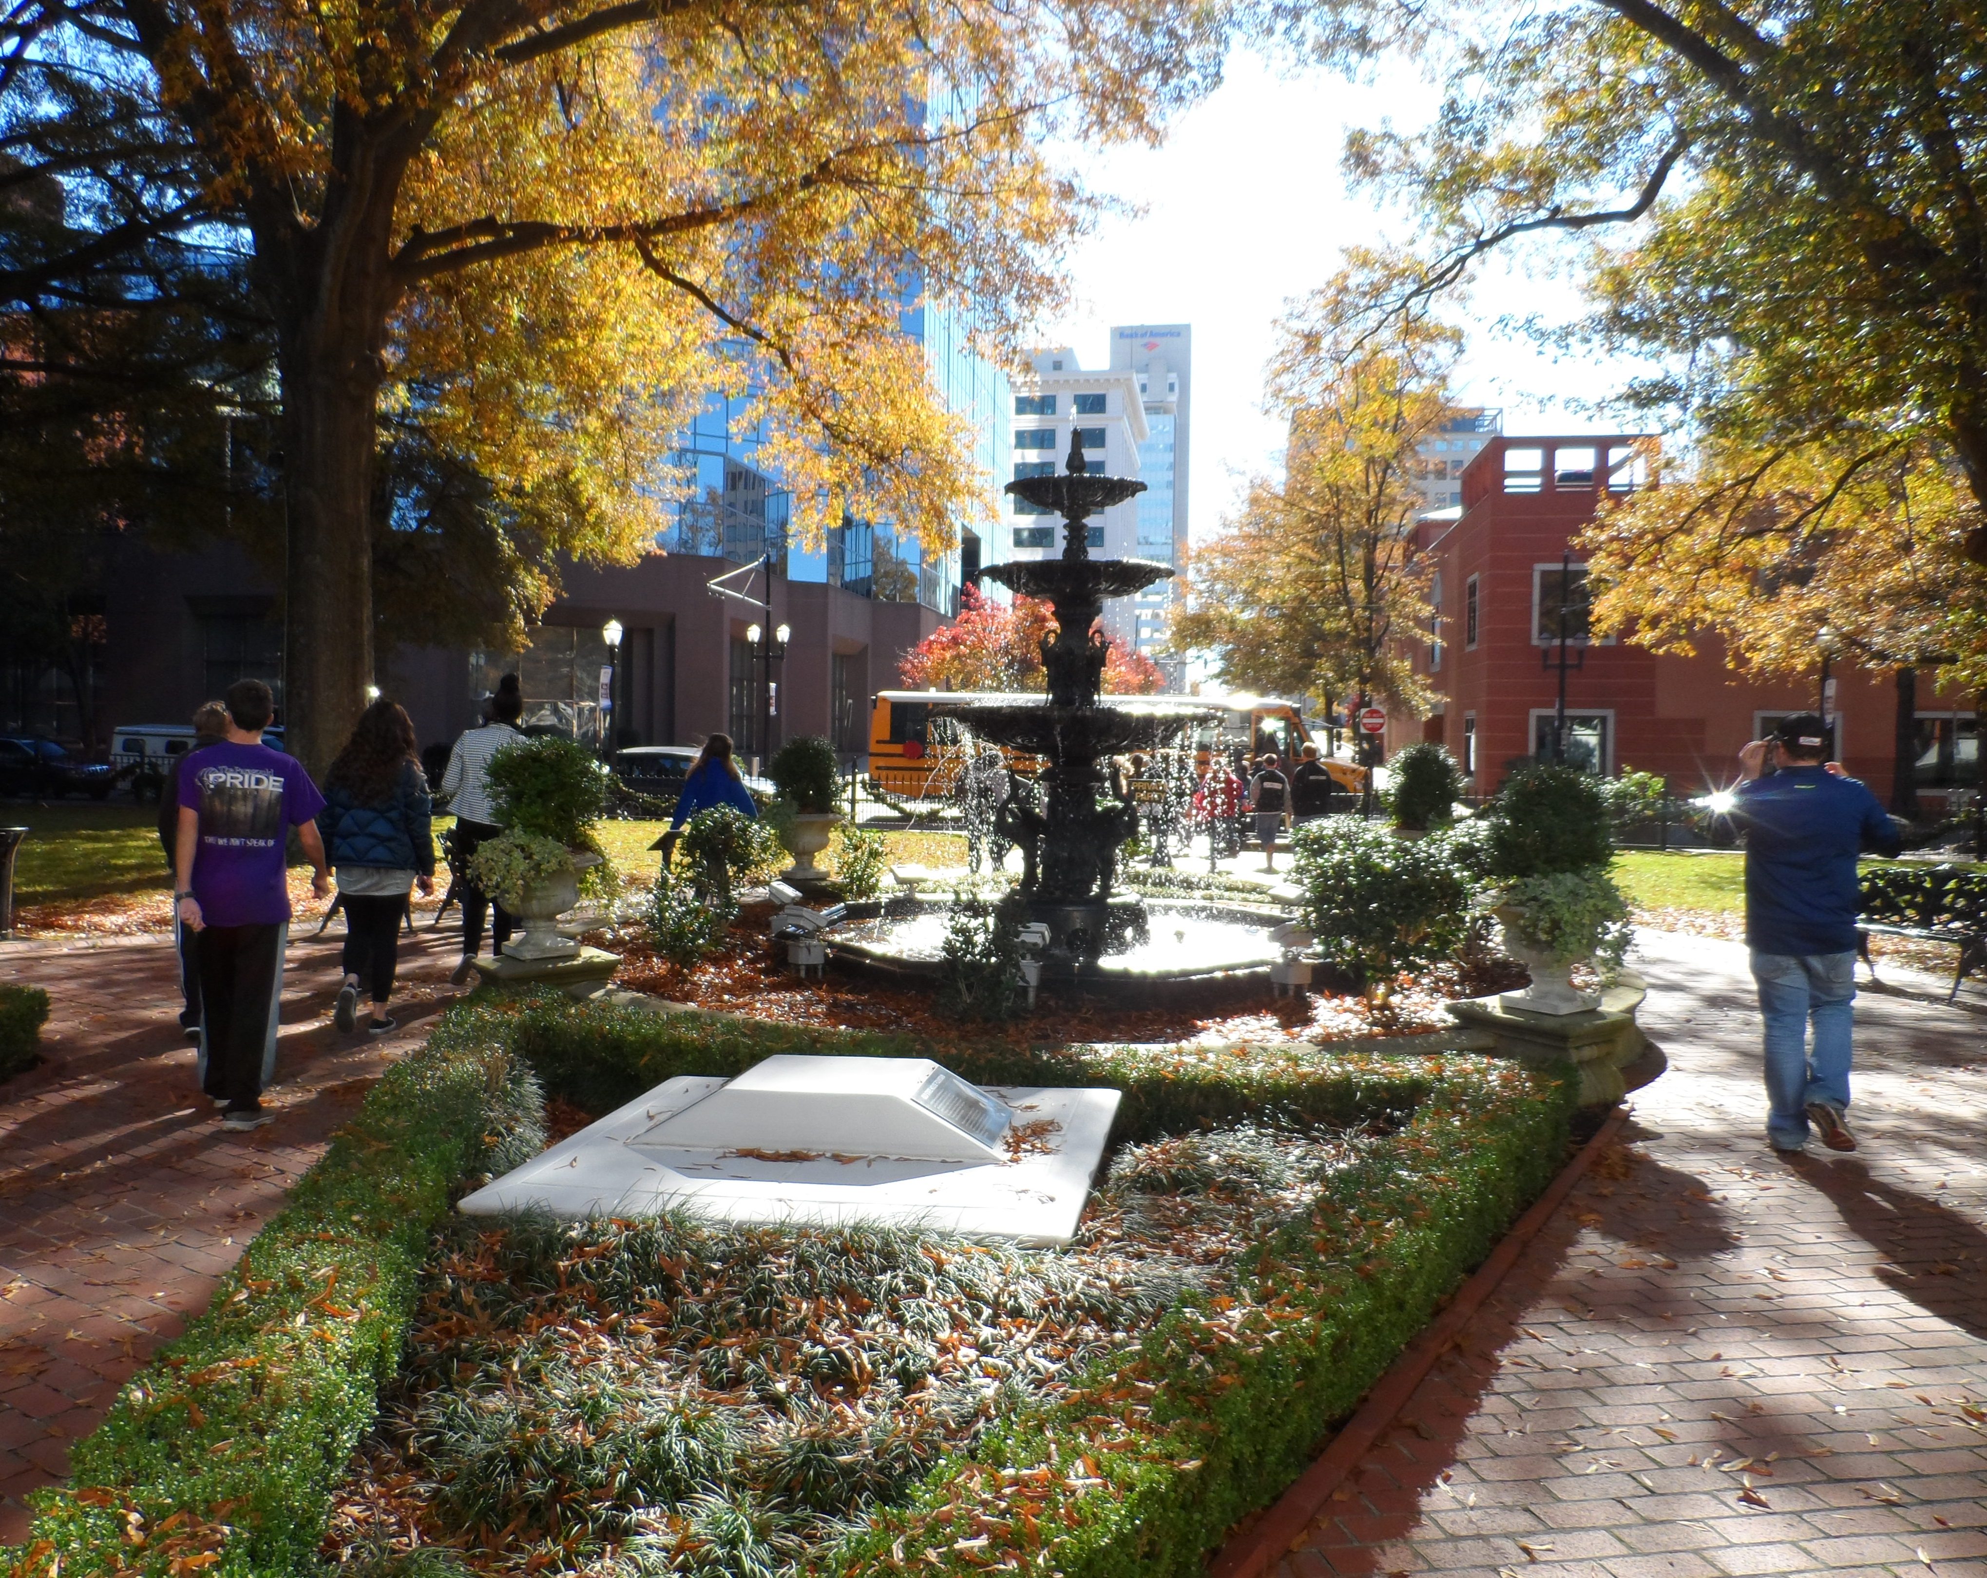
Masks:
[[[471,1175],[542,1147],[529,1068],[475,1016],[439,1028],[77,1443],[10,1572],[310,1570],[399,1364],[435,1223]]]

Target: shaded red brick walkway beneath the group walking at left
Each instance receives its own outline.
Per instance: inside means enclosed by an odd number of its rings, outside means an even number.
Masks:
[[[461,935],[401,939],[401,1028],[354,1042],[328,1020],[340,929],[292,941],[276,1121],[221,1131],[179,1034],[171,945],[0,943],[0,981],[48,988],[62,1062],[0,1086],[0,1544],[22,1499],[68,1473],[117,1385],[189,1314],[282,1205],[385,1062],[447,1002]]]

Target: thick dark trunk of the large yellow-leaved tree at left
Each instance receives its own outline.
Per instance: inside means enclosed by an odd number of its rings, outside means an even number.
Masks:
[[[366,711],[372,651],[372,326],[306,324],[286,337],[284,742],[322,778]]]

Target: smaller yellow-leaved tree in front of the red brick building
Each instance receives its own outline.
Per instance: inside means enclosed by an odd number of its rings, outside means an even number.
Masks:
[[[1383,318],[1399,260],[1355,254],[1286,318],[1270,403],[1290,419],[1284,476],[1256,476],[1242,508],[1194,548],[1174,651],[1270,695],[1347,697],[1405,711],[1429,701],[1411,647],[1429,639],[1427,508],[1419,445],[1454,415],[1454,331],[1419,310]]]

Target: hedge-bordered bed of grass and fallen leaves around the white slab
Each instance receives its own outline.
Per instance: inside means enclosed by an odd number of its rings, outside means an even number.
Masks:
[[[678,1074],[932,1056],[1123,1092],[1069,1250],[457,1199]],[[1015,1046],[449,1010],[34,1495],[16,1578],[1186,1578],[1568,1153],[1570,1082],[1272,1046]]]

